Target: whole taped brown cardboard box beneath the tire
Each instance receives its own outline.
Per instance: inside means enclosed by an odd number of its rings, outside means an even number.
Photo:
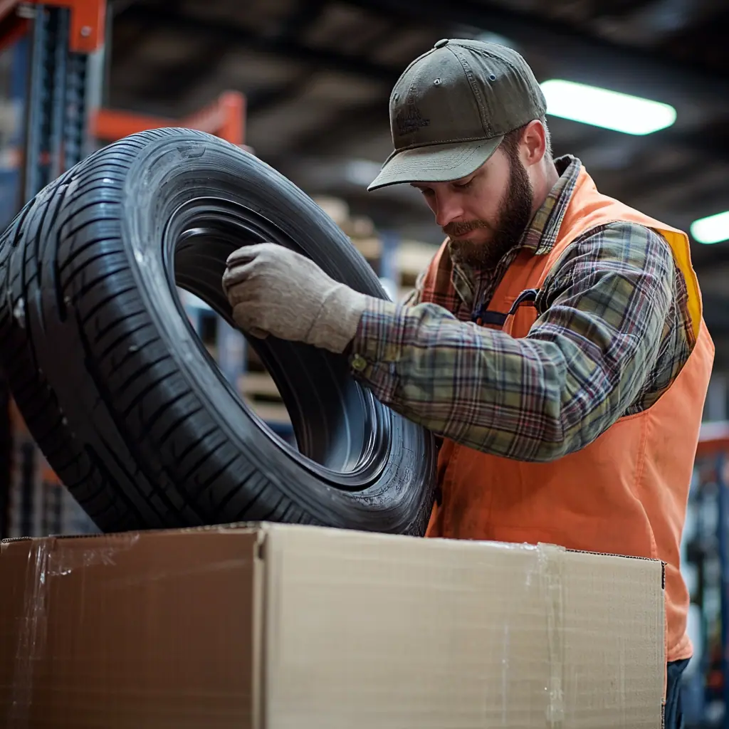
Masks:
[[[663,566],[304,526],[9,541],[7,728],[661,725]]]

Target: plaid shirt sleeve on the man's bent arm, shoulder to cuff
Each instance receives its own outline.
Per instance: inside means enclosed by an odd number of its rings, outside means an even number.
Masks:
[[[526,338],[437,305],[373,301],[353,342],[355,375],[434,433],[523,461],[588,445],[636,399],[674,295],[666,241],[614,223],[569,246]]]

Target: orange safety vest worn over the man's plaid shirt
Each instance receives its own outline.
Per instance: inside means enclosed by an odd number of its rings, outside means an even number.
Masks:
[[[590,445],[550,463],[492,456],[446,439],[438,462],[442,499],[434,506],[426,536],[549,542],[661,559],[666,564],[666,660],[679,660],[693,653],[686,634],[689,595],[679,570],[679,545],[714,361],[687,235],[601,195],[582,168],[552,251],[535,255],[524,249],[518,254],[488,310],[509,312],[521,292],[542,286],[572,241],[617,221],[650,227],[671,246],[686,279],[696,337],[686,364],[652,407],[620,418]],[[426,271],[424,302],[440,303],[452,293],[439,269],[440,258],[448,255],[445,246]],[[518,305],[502,330],[525,337],[536,318],[534,305]]]

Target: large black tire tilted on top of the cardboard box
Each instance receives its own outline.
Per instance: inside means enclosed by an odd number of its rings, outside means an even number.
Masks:
[[[102,531],[268,520],[423,534],[432,436],[377,402],[343,356],[250,340],[299,452],[190,327],[176,284],[232,324],[225,259],[261,240],[385,296],[310,198],[214,136],[135,134],[40,192],[0,239],[0,358],[28,428]]]

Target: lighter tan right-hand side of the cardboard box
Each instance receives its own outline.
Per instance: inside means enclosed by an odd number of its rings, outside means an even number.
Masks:
[[[266,531],[269,729],[660,727],[658,561]]]

